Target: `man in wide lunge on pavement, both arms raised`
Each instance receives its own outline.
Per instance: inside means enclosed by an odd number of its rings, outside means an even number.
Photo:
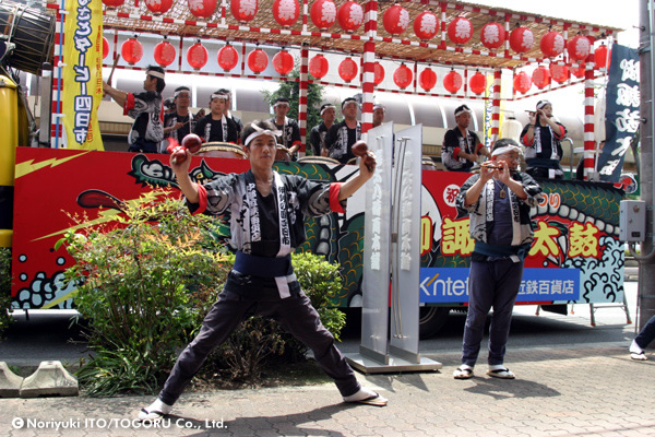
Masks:
[[[345,402],[386,404],[384,398],[359,385],[300,288],[291,265],[291,252],[306,239],[305,215],[344,212],[347,199],[373,175],[374,154],[367,153],[370,168],[361,160],[359,173],[344,184],[310,180],[273,170],[276,134],[270,121],[246,125],[241,139],[250,170],[203,180],[205,185],[191,180],[189,155],[170,163],[192,213],[233,211],[230,238],[237,256],[218,302],[204,318],[198,336],[178,357],[157,400],[139,413],[142,421],[157,422],[170,414],[211,351],[254,315],[275,319],[311,349]]]

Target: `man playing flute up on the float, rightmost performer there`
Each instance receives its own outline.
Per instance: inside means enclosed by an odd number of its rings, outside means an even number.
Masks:
[[[536,178],[563,179],[564,170],[559,162],[564,137],[567,128],[552,118],[552,104],[538,102],[536,111],[529,113],[529,123],[521,132],[521,142],[526,147],[526,172]]]

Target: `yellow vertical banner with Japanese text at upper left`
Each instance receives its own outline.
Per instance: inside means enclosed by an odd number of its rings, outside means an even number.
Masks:
[[[62,113],[68,149],[104,150],[97,119],[103,98],[103,2],[66,2]]]

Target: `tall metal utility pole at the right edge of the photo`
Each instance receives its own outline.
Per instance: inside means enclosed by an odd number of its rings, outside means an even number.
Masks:
[[[641,198],[646,202],[646,239],[642,243],[641,252],[651,253],[654,249],[653,238],[655,226],[653,223],[653,132],[655,120],[653,120],[653,0],[641,0],[640,2],[640,75],[641,75]],[[655,315],[655,257],[640,259],[638,308],[639,329]]]

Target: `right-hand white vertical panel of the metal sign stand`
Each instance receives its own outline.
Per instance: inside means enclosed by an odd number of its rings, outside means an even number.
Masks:
[[[390,353],[420,363],[420,190],[422,125],[396,132],[392,217],[392,291]]]

